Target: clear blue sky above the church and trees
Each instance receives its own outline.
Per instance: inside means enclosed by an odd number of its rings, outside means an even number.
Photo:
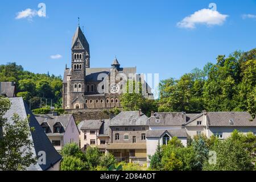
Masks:
[[[35,13],[41,2],[46,17]],[[209,10],[216,13],[213,18]],[[214,63],[217,55],[256,47],[255,0],[3,0],[0,64],[15,61],[31,72],[63,75],[65,64],[71,64],[78,16],[91,67],[110,67],[117,56],[122,67],[137,66],[138,73],[179,78]]]

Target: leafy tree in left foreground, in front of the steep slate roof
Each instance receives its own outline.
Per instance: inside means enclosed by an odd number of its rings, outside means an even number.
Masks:
[[[0,127],[5,129],[0,133],[0,170],[21,171],[36,163],[30,139],[34,129],[28,127],[29,116],[22,120],[14,114],[13,123],[6,122],[3,115],[9,109],[9,99],[0,97]]]

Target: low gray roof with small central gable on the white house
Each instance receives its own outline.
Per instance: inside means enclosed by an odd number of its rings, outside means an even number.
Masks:
[[[187,131],[185,129],[179,130],[148,130],[147,138],[161,138],[164,134],[169,134],[171,137],[187,138]]]

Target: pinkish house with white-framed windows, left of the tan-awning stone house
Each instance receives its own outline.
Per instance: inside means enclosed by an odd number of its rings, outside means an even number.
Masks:
[[[82,151],[86,151],[88,146],[97,146],[105,152],[109,143],[109,119],[85,120],[78,127]]]

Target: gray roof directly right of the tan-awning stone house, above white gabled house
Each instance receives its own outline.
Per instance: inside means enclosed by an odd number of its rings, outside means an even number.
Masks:
[[[159,119],[159,122],[156,122]],[[155,113],[148,120],[149,126],[181,126],[186,122],[185,113]]]

